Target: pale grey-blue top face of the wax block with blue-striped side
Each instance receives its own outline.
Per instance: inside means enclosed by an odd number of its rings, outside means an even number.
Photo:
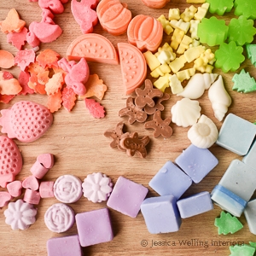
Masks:
[[[218,184],[249,201],[256,189],[256,169],[241,160],[232,160]]]

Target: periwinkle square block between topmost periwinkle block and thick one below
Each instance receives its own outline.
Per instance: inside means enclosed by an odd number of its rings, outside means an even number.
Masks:
[[[176,199],[179,199],[189,189],[192,180],[172,161],[167,161],[148,184],[159,195],[174,195]]]

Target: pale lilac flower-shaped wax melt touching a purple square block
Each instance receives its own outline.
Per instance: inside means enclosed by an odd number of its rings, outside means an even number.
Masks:
[[[101,172],[93,172],[84,178],[82,183],[84,197],[92,202],[107,201],[113,184],[110,177]]]

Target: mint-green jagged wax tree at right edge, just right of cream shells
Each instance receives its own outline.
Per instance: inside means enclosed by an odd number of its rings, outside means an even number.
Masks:
[[[232,78],[234,82],[232,90],[237,90],[238,92],[248,93],[256,90],[256,82],[250,74],[245,72],[244,69],[241,70],[241,73],[235,73]]]

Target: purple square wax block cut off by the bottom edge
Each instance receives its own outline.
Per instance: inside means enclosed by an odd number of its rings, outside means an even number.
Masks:
[[[82,256],[79,236],[62,236],[50,238],[47,241],[48,256]]]

